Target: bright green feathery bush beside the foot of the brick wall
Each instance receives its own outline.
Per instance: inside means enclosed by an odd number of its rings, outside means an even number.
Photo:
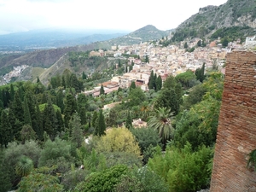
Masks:
[[[153,159],[148,160],[148,168],[166,180],[169,191],[193,192],[209,186],[212,172],[212,149],[201,147],[193,152],[187,143],[184,148],[160,148]]]

